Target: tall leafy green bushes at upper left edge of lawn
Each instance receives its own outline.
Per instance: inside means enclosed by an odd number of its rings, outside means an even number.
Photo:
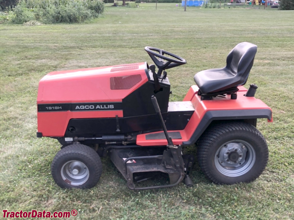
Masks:
[[[13,8],[11,22],[23,24],[37,20],[46,24],[80,23],[98,17],[103,12],[102,0],[21,0]]]

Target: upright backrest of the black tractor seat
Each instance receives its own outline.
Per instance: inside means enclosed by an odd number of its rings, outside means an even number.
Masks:
[[[249,42],[237,44],[228,54],[226,68],[239,78],[239,86],[244,85],[252,68],[257,46]]]

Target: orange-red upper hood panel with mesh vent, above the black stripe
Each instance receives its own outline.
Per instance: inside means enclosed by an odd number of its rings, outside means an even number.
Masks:
[[[40,80],[37,103],[122,101],[147,74],[146,62],[51,72]]]

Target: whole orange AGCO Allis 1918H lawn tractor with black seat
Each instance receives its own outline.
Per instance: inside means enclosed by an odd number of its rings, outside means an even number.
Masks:
[[[109,156],[129,189],[182,181],[192,186],[194,156],[182,151],[187,145],[197,147],[198,164],[212,182],[255,180],[268,161],[256,122],[272,121],[271,108],[254,97],[257,86],[243,87],[257,46],[239,43],[224,68],[196,73],[196,85],[176,102],[169,102],[166,70],[186,60],[154,47],[145,50],[155,65],[55,71],[40,80],[37,137],[62,145],[51,164],[57,185],[95,186],[102,173],[100,157]]]

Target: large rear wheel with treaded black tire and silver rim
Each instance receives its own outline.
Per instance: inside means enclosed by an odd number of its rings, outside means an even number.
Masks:
[[[268,148],[251,124],[219,123],[198,141],[198,163],[205,176],[217,184],[251,182],[265,169]]]

